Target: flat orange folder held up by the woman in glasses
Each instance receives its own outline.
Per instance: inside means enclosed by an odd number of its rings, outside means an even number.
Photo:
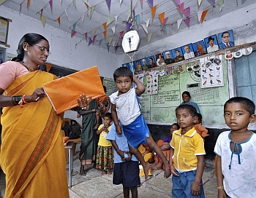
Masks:
[[[42,87],[57,114],[78,106],[77,99],[83,93],[87,98],[91,95],[92,99],[105,95],[97,66],[48,82]]]

